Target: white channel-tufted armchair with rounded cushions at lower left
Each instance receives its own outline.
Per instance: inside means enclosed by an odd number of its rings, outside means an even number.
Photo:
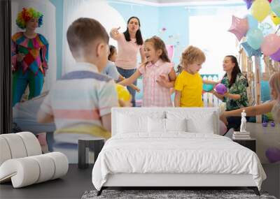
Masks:
[[[11,181],[14,188],[45,182],[66,175],[68,159],[59,152],[42,154],[33,133],[0,135],[0,183]]]

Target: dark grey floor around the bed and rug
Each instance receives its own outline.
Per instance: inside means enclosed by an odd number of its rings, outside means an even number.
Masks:
[[[280,164],[262,165],[267,179],[262,183],[262,191],[280,197]],[[78,169],[77,164],[70,164],[67,175],[61,179],[33,184],[20,189],[13,189],[11,183],[0,184],[0,198],[81,198],[83,193],[93,190],[92,166]]]

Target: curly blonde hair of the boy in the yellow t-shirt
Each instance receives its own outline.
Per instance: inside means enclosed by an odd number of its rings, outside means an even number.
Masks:
[[[181,64],[186,66],[186,64],[193,64],[195,61],[205,61],[205,54],[200,48],[190,45],[183,51],[181,57]]]

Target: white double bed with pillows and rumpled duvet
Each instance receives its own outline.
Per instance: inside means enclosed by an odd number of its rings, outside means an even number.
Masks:
[[[110,186],[248,186],[265,172],[250,149],[219,135],[218,108],[113,108],[112,138],[92,170]]]

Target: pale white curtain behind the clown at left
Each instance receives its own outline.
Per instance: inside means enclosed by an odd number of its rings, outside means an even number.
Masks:
[[[55,6],[49,0],[12,0],[12,35],[22,29],[15,24],[18,12],[22,8],[35,8],[43,14],[43,25],[36,32],[45,36],[49,43],[48,71],[45,75],[43,91],[48,91],[57,79],[57,53],[56,53],[56,28],[55,28]]]

